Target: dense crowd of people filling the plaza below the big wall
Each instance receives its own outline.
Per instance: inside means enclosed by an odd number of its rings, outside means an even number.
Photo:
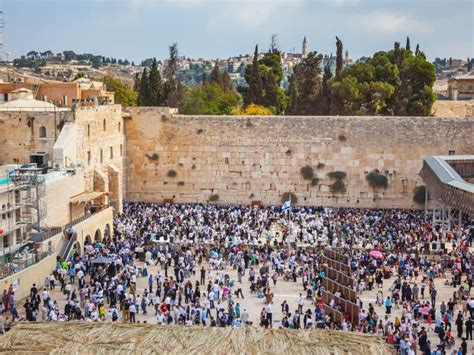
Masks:
[[[26,321],[338,329],[382,335],[402,355],[467,354],[473,239],[470,222],[444,233],[411,210],[294,207],[288,218],[278,206],[130,203],[113,233],[58,259],[21,306],[6,291],[0,309]],[[323,300],[328,247],[348,256],[358,322],[344,292]],[[296,302],[275,304],[281,282],[301,285]]]

